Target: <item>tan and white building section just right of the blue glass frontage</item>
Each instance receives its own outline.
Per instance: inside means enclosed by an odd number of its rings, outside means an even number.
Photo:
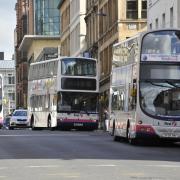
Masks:
[[[83,56],[86,49],[86,1],[61,0],[61,55]]]

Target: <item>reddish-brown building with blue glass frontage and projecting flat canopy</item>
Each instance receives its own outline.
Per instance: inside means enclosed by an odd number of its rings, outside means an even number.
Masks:
[[[59,0],[17,0],[16,105],[27,108],[28,67],[44,48],[60,44]]]

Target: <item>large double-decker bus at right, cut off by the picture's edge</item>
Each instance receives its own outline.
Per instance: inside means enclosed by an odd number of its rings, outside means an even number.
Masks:
[[[110,94],[114,140],[180,141],[180,30],[144,32],[115,44]]]

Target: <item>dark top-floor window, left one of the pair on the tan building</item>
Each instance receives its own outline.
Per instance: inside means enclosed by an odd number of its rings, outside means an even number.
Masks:
[[[137,0],[126,1],[126,18],[127,19],[138,18],[138,1]]]

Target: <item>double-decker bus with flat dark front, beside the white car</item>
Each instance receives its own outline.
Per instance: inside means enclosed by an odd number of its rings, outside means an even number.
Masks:
[[[61,57],[30,64],[28,118],[32,129],[98,128],[97,61]]]

